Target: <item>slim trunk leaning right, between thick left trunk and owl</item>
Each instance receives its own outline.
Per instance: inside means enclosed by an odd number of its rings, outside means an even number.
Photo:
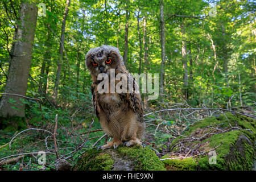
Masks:
[[[71,0],[67,0],[67,2],[66,2],[65,11],[64,11],[63,20],[62,20],[62,26],[61,26],[60,48],[59,48],[60,57],[59,57],[58,64],[57,64],[55,86],[53,89],[53,97],[55,97],[56,101],[57,101],[57,94],[58,94],[58,89],[59,89],[59,84],[60,84],[61,67],[62,67],[62,63],[63,63],[64,33],[65,33],[65,26],[66,26],[66,20],[68,17],[68,8],[70,5],[70,1]]]

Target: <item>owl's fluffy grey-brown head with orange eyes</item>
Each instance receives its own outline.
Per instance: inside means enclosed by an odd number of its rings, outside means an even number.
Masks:
[[[100,73],[109,75],[110,69],[117,69],[119,65],[123,64],[123,58],[118,48],[101,46],[88,51],[85,64],[91,75],[97,77]]]

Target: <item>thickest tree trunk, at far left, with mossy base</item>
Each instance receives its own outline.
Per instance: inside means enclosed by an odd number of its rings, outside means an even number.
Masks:
[[[12,48],[13,57],[10,58],[5,93],[24,96],[27,92],[38,7],[35,3],[21,2],[19,15],[18,29],[14,35]],[[10,100],[13,101],[9,102]],[[20,97],[2,96],[0,102],[1,117],[24,117],[24,109],[25,105],[20,101]]]

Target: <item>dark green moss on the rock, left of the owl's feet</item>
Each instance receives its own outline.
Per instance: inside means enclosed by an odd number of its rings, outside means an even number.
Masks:
[[[72,168],[75,171],[109,171],[113,168],[114,161],[109,154],[96,149],[86,150]]]

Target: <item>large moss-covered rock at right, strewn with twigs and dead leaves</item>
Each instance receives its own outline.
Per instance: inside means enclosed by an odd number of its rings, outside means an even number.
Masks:
[[[209,127],[212,126],[212,127]],[[231,129],[231,126],[234,129]],[[221,114],[219,117],[205,118],[195,123],[183,135],[197,138],[185,143],[184,148],[200,146],[199,150],[206,155],[195,156],[187,159],[163,160],[169,170],[251,170],[255,160],[255,119],[232,113]],[[217,129],[216,129],[217,127]],[[216,130],[213,130],[215,128]],[[219,134],[218,131],[224,131]],[[200,139],[199,139],[200,138]],[[172,151],[179,150],[175,147],[177,142],[184,137],[177,137],[171,145]],[[208,151],[216,148],[216,164],[209,164]],[[170,158],[170,155],[162,157]],[[174,156],[171,156],[174,158]]]

